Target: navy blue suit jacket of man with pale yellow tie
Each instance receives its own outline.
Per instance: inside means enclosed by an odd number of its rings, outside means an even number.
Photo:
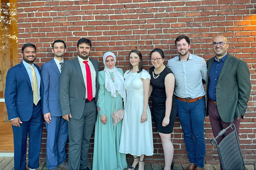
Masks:
[[[41,77],[40,68],[38,65],[35,65],[35,67],[38,69]],[[44,84],[41,78],[41,101],[43,100],[43,87]],[[20,117],[21,121],[28,121],[31,118],[33,111],[33,91],[29,74],[22,62],[9,69],[6,76],[4,97],[8,112],[8,119]]]

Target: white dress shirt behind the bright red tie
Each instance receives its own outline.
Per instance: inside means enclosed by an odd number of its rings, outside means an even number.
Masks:
[[[92,86],[93,86],[93,97],[95,97],[96,94],[96,71],[93,67],[93,63],[90,61],[90,58],[88,57],[87,60],[82,59],[81,57],[77,57],[81,66],[82,74],[84,77],[84,85],[85,88],[87,89],[87,82],[86,82],[86,69],[85,69],[85,64],[83,61],[88,61],[88,65],[90,67],[90,72],[91,72],[91,77],[92,77]],[[85,98],[87,99],[87,93],[85,94]]]

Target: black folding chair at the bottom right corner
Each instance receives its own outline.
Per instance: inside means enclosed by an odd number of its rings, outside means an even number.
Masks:
[[[224,135],[229,128],[233,129],[233,131],[225,136],[224,139],[218,144],[216,139],[219,136]],[[239,144],[239,137],[236,133],[236,126],[233,123],[230,123],[230,126],[228,126],[226,129],[221,130],[218,133],[218,136],[216,136],[214,139],[211,139],[211,143],[213,146],[216,144],[222,170],[246,170]]]

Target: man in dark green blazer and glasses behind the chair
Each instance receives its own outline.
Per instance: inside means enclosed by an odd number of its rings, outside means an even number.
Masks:
[[[227,38],[217,35],[212,40],[215,57],[207,61],[207,115],[214,137],[228,127],[230,123],[236,126],[239,134],[240,120],[243,118],[250,96],[250,73],[246,62],[227,52]],[[231,133],[227,130],[220,136],[218,143]]]

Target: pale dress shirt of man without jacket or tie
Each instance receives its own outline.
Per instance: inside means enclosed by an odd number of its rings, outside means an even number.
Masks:
[[[167,67],[175,76],[176,96],[195,99],[206,94],[202,79],[207,78],[207,65],[202,57],[189,53],[189,58],[182,61],[176,56],[169,59]]]

